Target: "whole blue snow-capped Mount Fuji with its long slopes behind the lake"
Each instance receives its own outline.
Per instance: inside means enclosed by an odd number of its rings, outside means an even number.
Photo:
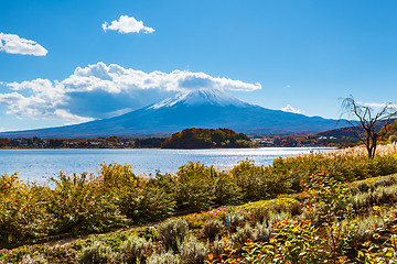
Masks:
[[[227,128],[247,134],[315,133],[336,120],[270,110],[218,89],[196,89],[122,116],[60,128],[3,132],[0,138],[154,136],[186,128]]]

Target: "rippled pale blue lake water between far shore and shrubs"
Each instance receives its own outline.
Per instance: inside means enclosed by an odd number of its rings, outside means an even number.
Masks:
[[[187,162],[201,162],[217,168],[232,168],[246,158],[257,165],[269,165],[280,156],[290,156],[311,151],[328,151],[316,147],[264,147],[228,150],[0,150],[0,175],[18,172],[21,179],[45,183],[49,177],[66,174],[98,172],[101,162],[131,165],[136,174],[174,173]]]

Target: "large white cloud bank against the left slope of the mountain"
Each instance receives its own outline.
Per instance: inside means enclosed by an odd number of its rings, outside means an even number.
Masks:
[[[144,73],[104,63],[77,67],[62,81],[37,78],[3,85],[11,90],[0,92],[0,105],[8,108],[8,113],[58,118],[74,123],[122,114],[191,89],[250,91],[261,88],[258,82],[248,84],[204,73]]]

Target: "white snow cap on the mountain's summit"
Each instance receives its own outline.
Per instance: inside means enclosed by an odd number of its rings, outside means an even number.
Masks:
[[[149,109],[171,108],[176,105],[185,105],[190,107],[202,105],[239,108],[253,107],[253,105],[219,89],[197,89],[187,92],[180,92],[174,97],[167,98],[165,100],[149,107]]]

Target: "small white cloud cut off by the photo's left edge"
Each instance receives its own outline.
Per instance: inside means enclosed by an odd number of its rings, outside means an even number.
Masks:
[[[0,51],[11,54],[45,56],[47,50],[35,41],[22,38],[14,34],[0,32]]]

